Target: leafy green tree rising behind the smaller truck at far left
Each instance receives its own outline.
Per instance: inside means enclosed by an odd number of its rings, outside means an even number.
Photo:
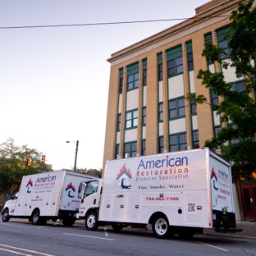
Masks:
[[[22,176],[51,171],[41,163],[41,155],[35,149],[28,149],[27,145],[16,146],[11,138],[0,144],[0,194],[4,195],[4,199],[7,194],[19,190]],[[30,166],[27,165],[28,158],[31,159]]]

